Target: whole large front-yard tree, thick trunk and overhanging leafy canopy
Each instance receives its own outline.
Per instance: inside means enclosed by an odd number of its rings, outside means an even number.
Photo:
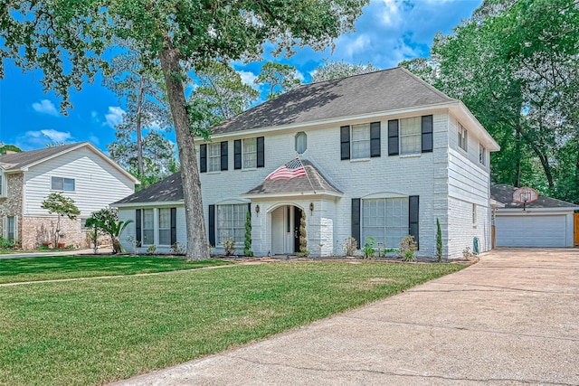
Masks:
[[[109,70],[118,40],[135,42],[147,62],[160,63],[176,130],[184,185],[187,259],[207,259],[204,205],[197,167],[195,126],[185,99],[185,70],[208,62],[252,60],[264,43],[273,54],[291,54],[295,45],[323,50],[354,28],[367,0],[235,2],[167,0],[2,0],[0,78],[10,59],[24,70],[40,69],[46,91],[71,108],[70,89],[81,89],[100,70]],[[307,22],[306,22],[307,21]],[[184,67],[186,64],[187,67]]]

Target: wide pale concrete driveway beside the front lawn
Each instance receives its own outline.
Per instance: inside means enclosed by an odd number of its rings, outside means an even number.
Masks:
[[[579,385],[579,250],[498,249],[456,274],[119,385]]]

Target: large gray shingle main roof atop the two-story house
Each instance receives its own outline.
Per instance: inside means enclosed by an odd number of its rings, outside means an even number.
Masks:
[[[455,101],[402,67],[304,84],[212,127],[214,134]]]

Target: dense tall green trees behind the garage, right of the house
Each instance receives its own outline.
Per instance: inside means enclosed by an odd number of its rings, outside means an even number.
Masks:
[[[488,0],[437,34],[434,70],[401,64],[461,99],[498,141],[495,183],[579,202],[578,41],[576,0]]]

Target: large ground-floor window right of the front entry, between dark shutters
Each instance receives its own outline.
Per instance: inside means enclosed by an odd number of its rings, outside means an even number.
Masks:
[[[372,237],[375,244],[397,248],[408,236],[408,198],[362,200],[362,240]]]

